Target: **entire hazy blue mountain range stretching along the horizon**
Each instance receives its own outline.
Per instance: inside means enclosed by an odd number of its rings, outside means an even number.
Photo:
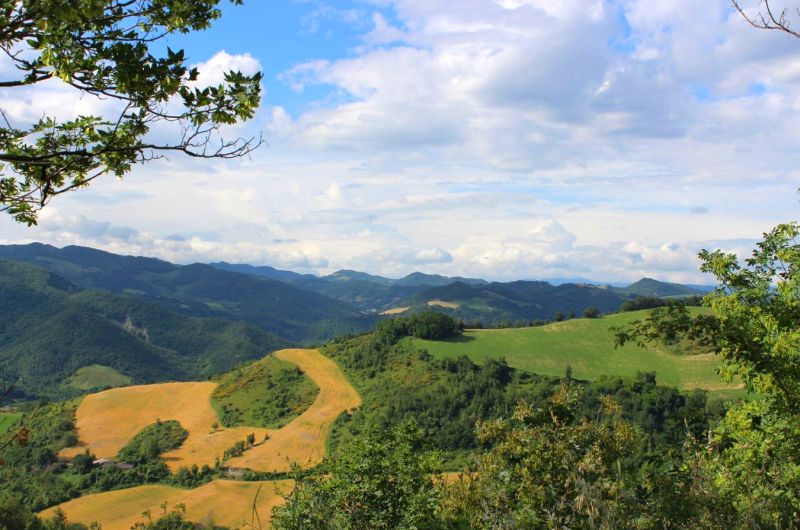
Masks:
[[[414,272],[399,279],[341,270],[328,276],[269,266],[175,265],[77,246],[0,246],[0,259],[55,272],[82,288],[132,295],[195,317],[244,321],[289,341],[313,342],[371,329],[381,314],[436,308],[496,325],[580,315],[595,306],[617,311],[636,296],[680,297],[702,289],[643,278],[625,287],[519,280],[488,282]]]

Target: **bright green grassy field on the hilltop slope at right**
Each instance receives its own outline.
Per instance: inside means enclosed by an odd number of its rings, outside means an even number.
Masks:
[[[610,328],[646,315],[647,311],[634,311],[532,328],[474,330],[448,341],[416,340],[416,343],[439,358],[466,355],[474,362],[482,362],[504,357],[510,366],[544,375],[563,376],[567,366],[572,367],[573,377],[585,380],[649,371],[655,372],[663,385],[703,388],[724,398],[743,394],[738,385],[720,379],[716,372],[719,359],[712,354],[676,355],[660,345],[645,349],[628,344],[614,349],[614,333]]]

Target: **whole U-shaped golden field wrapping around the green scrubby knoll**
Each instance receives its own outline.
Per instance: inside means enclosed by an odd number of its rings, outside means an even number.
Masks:
[[[273,355],[297,364],[319,387],[314,403],[279,430],[254,427],[219,428],[211,406],[216,383],[163,383],[115,388],[86,396],[78,407],[80,445],[61,452],[70,457],[89,449],[98,458],[114,458],[136,433],[156,420],[177,420],[189,431],[186,441],[164,454],[171,470],[182,466],[214,464],[225,449],[249,433],[256,445],[243,456],[228,461],[234,467],[257,471],[288,471],[292,462],[319,463],[334,420],[361,404],[361,398],[339,367],[318,350],[282,350]],[[261,442],[269,435],[269,440]]]

